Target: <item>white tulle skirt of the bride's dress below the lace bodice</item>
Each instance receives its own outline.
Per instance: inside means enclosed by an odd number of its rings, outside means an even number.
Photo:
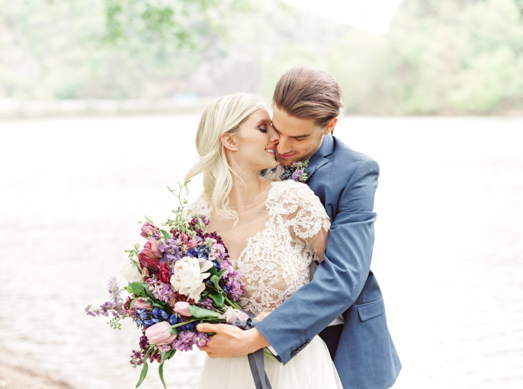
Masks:
[[[272,389],[342,389],[342,383],[325,342],[315,336],[286,365],[265,357]],[[255,389],[247,357],[206,357],[200,389]]]

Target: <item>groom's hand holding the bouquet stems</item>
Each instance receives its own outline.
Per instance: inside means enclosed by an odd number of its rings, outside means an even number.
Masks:
[[[269,346],[269,342],[256,328],[243,330],[229,324],[200,323],[198,331],[215,333],[200,350],[211,358],[231,358],[247,355]]]

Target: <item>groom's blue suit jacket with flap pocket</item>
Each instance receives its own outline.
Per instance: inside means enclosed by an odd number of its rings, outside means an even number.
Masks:
[[[307,171],[307,184],[331,219],[325,260],[310,283],[256,328],[287,363],[343,314],[345,324],[338,334],[334,363],[344,388],[388,388],[401,363],[386,324],[378,282],[370,271],[378,164],[325,135]]]

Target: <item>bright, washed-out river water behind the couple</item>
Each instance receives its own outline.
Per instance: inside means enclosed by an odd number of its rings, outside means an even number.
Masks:
[[[134,387],[138,331],[83,310],[143,243],[143,215],[176,207],[166,186],[196,161],[198,119],[0,121],[0,362]],[[520,387],[523,118],[346,117],[335,135],[381,168],[372,269],[403,363],[394,387]],[[170,360],[168,387],[194,388],[202,357]],[[141,387],[161,387],[155,369]]]

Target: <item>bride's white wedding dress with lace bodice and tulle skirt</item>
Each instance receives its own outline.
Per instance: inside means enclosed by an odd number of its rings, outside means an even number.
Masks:
[[[310,281],[314,252],[309,243],[321,238],[330,227],[325,209],[312,190],[292,180],[272,182],[262,208],[256,220],[265,223],[258,224],[258,231],[246,237],[246,246],[235,250],[237,257],[230,258],[242,276],[244,294],[239,303],[255,315],[274,311]],[[212,221],[207,202],[200,199],[189,209]],[[319,336],[285,365],[265,358],[265,371],[273,389],[342,388],[327,346]],[[211,387],[254,389],[247,357],[206,358],[200,388]]]

